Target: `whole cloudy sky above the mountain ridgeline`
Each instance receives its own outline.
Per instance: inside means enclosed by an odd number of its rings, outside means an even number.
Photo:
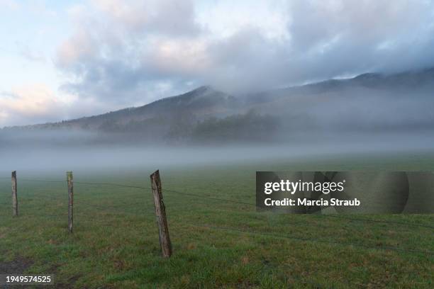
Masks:
[[[429,0],[0,0],[0,127],[434,66]]]

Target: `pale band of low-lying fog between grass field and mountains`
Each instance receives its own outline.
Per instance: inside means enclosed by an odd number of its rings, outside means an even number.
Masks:
[[[38,134],[40,136],[40,134]],[[312,159],[330,155],[357,157],[360,154],[425,152],[433,148],[434,135],[427,132],[293,135],[291,142],[262,142],[260,145],[115,145],[76,142],[91,140],[90,134],[56,134],[41,138],[15,133],[0,144],[0,172],[13,170],[162,169],[174,166],[243,164]],[[46,142],[50,140],[50,142]],[[258,167],[257,170],[261,168]]]

